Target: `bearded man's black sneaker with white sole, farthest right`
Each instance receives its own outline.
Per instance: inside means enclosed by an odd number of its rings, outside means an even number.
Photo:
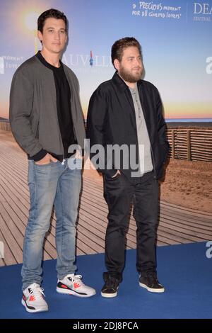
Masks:
[[[139,278],[139,286],[146,288],[151,293],[163,293],[165,288],[158,282],[155,272],[145,273]]]

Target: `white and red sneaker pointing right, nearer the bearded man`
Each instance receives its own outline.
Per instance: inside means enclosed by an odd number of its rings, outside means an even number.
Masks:
[[[81,279],[81,275],[66,275],[62,280],[57,281],[57,293],[75,295],[78,297],[90,297],[95,295],[95,289],[86,286]]]

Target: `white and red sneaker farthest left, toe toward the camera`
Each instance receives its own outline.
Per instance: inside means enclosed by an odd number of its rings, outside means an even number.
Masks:
[[[42,312],[48,310],[45,294],[39,284],[32,283],[23,290],[21,303],[28,312]]]

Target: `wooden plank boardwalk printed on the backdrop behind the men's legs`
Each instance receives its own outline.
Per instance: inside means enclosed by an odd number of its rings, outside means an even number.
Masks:
[[[4,258],[0,266],[22,262],[25,226],[30,207],[27,184],[28,162],[11,132],[0,131],[0,242]],[[94,171],[93,171],[94,172]],[[102,179],[93,172],[83,174],[83,190],[77,225],[76,254],[104,252],[107,205]],[[45,239],[44,259],[55,259],[55,216]],[[160,202],[158,245],[201,242],[212,239],[212,214]],[[136,247],[136,222],[130,216],[126,248]]]

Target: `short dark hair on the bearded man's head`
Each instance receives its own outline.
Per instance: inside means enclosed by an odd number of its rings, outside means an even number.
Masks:
[[[126,49],[126,47],[130,47],[130,46],[137,47],[138,50],[139,50],[139,53],[141,55],[141,45],[138,42],[138,40],[136,40],[136,38],[134,38],[134,37],[121,38],[121,39],[117,40],[114,43],[114,45],[112,45],[111,59],[112,59],[112,64],[113,65],[114,65],[114,60],[115,59],[119,60],[119,62],[122,61],[124,50]]]

